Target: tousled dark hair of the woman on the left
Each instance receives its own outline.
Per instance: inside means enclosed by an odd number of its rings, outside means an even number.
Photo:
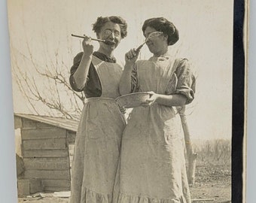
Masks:
[[[117,23],[120,26],[120,35],[121,38],[125,38],[127,35],[127,23],[123,18],[111,16],[111,17],[98,17],[96,20],[96,23],[93,24],[93,31],[96,32],[98,35],[100,30],[102,29],[102,26],[105,25],[105,23],[112,22]]]

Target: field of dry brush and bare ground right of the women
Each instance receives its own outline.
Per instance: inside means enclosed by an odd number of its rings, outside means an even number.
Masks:
[[[231,200],[231,140],[197,140],[194,150],[198,156],[191,197]]]

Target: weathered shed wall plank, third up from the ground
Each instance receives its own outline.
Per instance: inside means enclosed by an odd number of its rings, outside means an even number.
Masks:
[[[24,158],[26,170],[69,170],[69,157]]]

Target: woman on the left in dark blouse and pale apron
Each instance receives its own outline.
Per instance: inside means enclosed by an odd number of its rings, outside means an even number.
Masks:
[[[122,74],[114,50],[126,37],[126,29],[126,21],[121,17],[98,17],[93,31],[99,39],[99,50],[93,52],[91,38],[84,36],[84,52],[75,56],[71,68],[72,89],[84,91],[86,96],[75,139],[71,203],[105,203],[112,199],[125,126],[114,101],[120,95]]]

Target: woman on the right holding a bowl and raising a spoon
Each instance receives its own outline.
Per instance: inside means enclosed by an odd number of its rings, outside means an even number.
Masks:
[[[138,49],[126,53],[120,93],[150,92],[151,97],[133,109],[123,132],[113,202],[190,203],[183,132],[175,107],[192,102],[195,77],[187,59],[169,53],[169,46],[178,41],[173,23],[151,18],[142,31],[153,56],[136,62]],[[155,32],[160,35],[151,37]]]

